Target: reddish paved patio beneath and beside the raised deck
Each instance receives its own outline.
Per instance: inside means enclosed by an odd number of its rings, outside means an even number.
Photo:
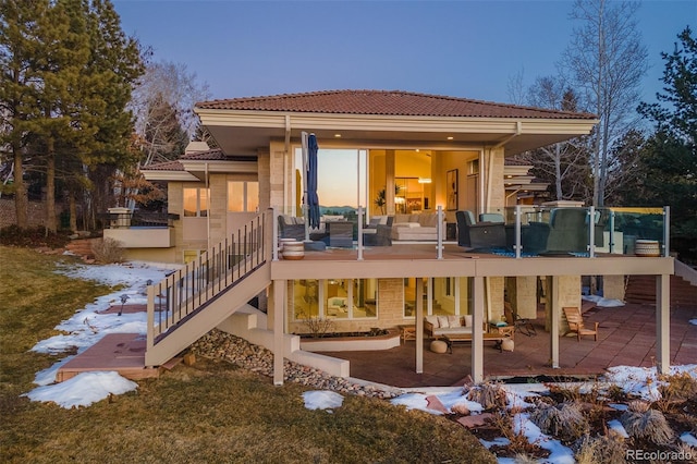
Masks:
[[[671,364],[697,362],[697,302],[671,308]],[[599,322],[599,337],[580,342],[576,337],[560,338],[560,368],[547,367],[549,332],[545,314],[534,321],[537,337],[515,334],[515,350],[500,353],[492,344],[484,347],[484,374],[489,379],[512,377],[588,377],[611,366],[655,365],[656,310],[653,305],[627,304],[623,307],[594,308],[584,314],[588,322]],[[453,354],[432,353],[430,340],[424,341],[424,373],[415,373],[414,340],[401,346],[376,352],[322,353],[351,362],[351,377],[402,388],[449,387],[461,384],[470,373],[470,344],[456,344]]]

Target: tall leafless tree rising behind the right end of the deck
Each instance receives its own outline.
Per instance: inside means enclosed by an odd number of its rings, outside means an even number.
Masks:
[[[638,3],[576,0],[571,19],[578,22],[561,68],[571,74],[584,106],[600,122],[592,134],[595,206],[606,198],[612,146],[636,121],[647,50],[635,22]]]

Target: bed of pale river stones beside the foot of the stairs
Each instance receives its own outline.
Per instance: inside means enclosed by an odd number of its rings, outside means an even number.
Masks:
[[[191,346],[192,353],[211,359],[223,359],[244,369],[273,377],[273,353],[252,344],[244,339],[212,330]],[[362,384],[343,377],[334,377],[323,370],[303,366],[283,359],[283,378],[285,381],[302,383],[318,390],[332,390],[338,393],[355,394],[379,399],[399,396],[399,389],[384,389],[375,384]]]

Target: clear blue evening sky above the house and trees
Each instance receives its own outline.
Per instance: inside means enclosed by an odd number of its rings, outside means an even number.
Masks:
[[[557,73],[574,27],[571,0],[113,1],[126,34],[186,63],[212,98],[369,88],[508,102],[516,73],[526,86]],[[637,20],[653,101],[660,52],[697,29],[697,1],[644,1]]]

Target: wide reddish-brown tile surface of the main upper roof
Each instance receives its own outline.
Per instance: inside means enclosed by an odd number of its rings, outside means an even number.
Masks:
[[[491,101],[402,90],[326,90],[201,101],[198,109],[242,111],[291,111],[340,114],[460,117],[460,118],[530,118],[595,119],[590,113],[519,107]]]

